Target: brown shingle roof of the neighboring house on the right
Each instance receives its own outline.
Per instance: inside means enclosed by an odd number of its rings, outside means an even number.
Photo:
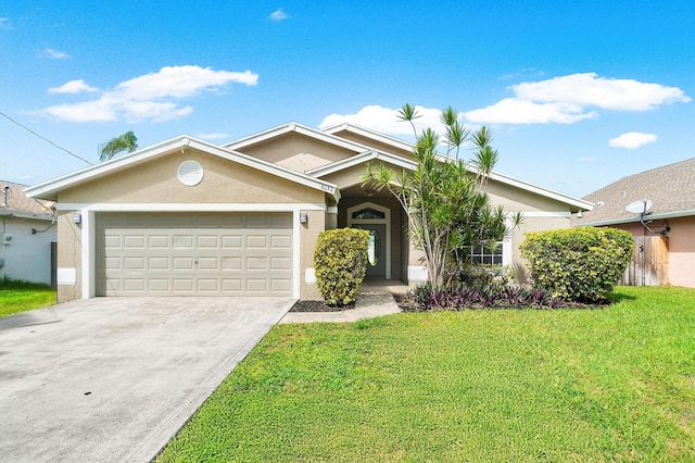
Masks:
[[[637,222],[626,207],[646,199],[652,218],[695,215],[695,158],[623,177],[583,199],[596,205],[583,218],[572,217],[574,226]]]

